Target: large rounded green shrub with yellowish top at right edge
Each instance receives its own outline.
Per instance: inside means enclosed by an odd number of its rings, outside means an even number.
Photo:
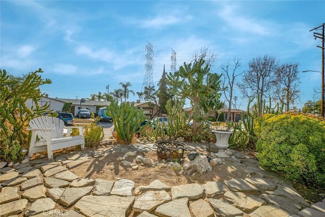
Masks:
[[[325,185],[325,122],[297,114],[267,114],[256,126],[259,165],[307,185]]]

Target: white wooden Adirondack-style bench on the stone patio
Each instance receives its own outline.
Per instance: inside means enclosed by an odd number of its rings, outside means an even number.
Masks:
[[[61,148],[81,145],[85,147],[85,139],[83,138],[83,127],[66,127],[63,120],[56,117],[42,116],[36,117],[29,121],[31,130],[31,140],[28,156],[33,153],[47,151],[50,160],[53,159],[53,151]],[[70,136],[73,128],[79,128],[78,136]],[[63,129],[65,132],[63,132]]]

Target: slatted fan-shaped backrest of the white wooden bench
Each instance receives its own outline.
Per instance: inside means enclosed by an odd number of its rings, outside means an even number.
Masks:
[[[57,117],[36,117],[29,121],[29,126],[36,129],[51,129],[52,138],[63,137],[64,122]],[[37,135],[40,139],[46,139],[45,131],[37,131]]]

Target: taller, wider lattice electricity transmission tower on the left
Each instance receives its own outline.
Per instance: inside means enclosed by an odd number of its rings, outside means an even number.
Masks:
[[[144,91],[144,87],[153,86],[153,77],[152,77],[152,73],[153,73],[153,68],[152,68],[153,67],[153,49],[152,49],[152,47],[153,47],[152,44],[150,44],[150,42],[148,42],[148,44],[146,46],[146,51],[147,51],[146,65],[145,65],[146,74],[144,76],[141,92]]]

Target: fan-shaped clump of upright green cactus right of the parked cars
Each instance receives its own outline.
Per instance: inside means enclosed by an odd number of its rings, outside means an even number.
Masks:
[[[126,144],[132,143],[134,135],[142,132],[149,124],[147,121],[145,125],[141,126],[146,116],[143,109],[138,109],[134,103],[118,105],[117,101],[113,101],[107,107],[106,115],[113,118],[115,131]]]

